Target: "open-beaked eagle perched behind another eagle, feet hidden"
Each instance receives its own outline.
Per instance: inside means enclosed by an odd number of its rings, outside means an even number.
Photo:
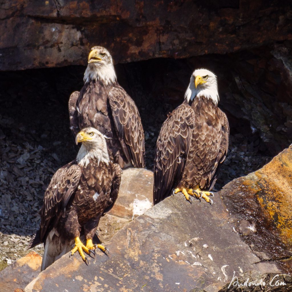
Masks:
[[[145,167],[144,131],[135,102],[117,82],[112,56],[100,46],[91,49],[84,86],[69,99],[70,128],[94,127],[106,135],[109,158],[122,168]]]

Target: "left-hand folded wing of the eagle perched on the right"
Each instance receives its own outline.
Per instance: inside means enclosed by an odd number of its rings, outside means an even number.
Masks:
[[[182,104],[161,127],[154,159],[154,205],[168,197],[182,178],[190,148],[193,121],[192,108]]]

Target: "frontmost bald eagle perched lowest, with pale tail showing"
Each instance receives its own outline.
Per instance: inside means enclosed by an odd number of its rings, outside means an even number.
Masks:
[[[41,226],[32,246],[44,242],[43,271],[55,260],[75,247],[84,255],[95,254],[95,248],[106,251],[101,244],[93,244],[100,217],[109,211],[117,199],[121,168],[113,164],[107,152],[104,135],[95,128],[85,128],[76,136],[82,142],[77,157],[53,175],[41,208]],[[86,238],[86,246],[79,239]]]

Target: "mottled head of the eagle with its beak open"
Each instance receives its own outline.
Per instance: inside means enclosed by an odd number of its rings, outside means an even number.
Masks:
[[[88,65],[84,73],[84,83],[99,80],[104,85],[117,80],[112,56],[106,48],[94,46],[88,55]]]

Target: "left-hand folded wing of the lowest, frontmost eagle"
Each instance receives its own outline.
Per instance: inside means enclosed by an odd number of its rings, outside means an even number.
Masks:
[[[69,164],[59,168],[53,175],[44,195],[44,204],[41,208],[40,240],[43,242],[48,232],[58,223],[68,201],[81,176],[77,164]]]

